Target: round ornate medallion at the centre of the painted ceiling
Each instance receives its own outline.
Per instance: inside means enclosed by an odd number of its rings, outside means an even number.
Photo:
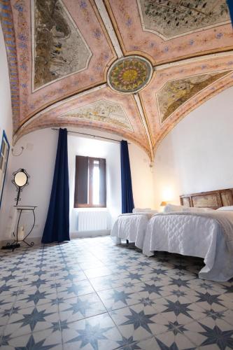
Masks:
[[[152,73],[148,59],[135,55],[122,57],[108,70],[108,85],[117,92],[132,94],[149,83]]]

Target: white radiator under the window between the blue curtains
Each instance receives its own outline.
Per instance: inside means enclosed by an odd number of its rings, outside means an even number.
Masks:
[[[108,211],[79,211],[78,231],[108,229]]]

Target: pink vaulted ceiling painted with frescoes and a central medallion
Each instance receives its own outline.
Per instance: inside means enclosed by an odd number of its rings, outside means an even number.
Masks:
[[[14,141],[89,127],[153,159],[190,111],[233,85],[225,0],[0,0]]]

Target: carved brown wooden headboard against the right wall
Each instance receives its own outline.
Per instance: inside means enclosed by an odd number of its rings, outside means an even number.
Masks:
[[[218,209],[233,205],[233,188],[181,195],[180,200],[185,207]]]

